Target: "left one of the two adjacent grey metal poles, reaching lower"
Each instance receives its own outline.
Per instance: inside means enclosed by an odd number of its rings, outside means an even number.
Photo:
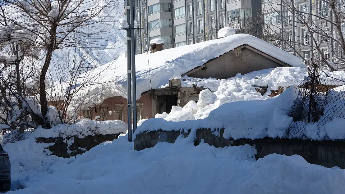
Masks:
[[[128,12],[131,5],[130,1],[127,0],[127,7],[126,7],[126,14],[127,14],[127,22],[130,21],[130,14]],[[127,136],[128,136],[128,141],[132,141],[132,108],[131,108],[131,103],[132,103],[132,92],[131,92],[131,45],[130,45],[130,38],[131,37],[131,28],[127,29]]]

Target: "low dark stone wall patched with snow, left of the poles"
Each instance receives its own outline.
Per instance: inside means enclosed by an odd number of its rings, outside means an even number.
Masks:
[[[106,141],[112,141],[118,138],[120,133],[117,134],[95,134],[85,137],[67,136],[63,137],[37,137],[36,143],[55,143],[50,145],[47,149],[51,152],[51,155],[58,157],[70,158],[78,154],[85,153],[92,147],[99,145]]]

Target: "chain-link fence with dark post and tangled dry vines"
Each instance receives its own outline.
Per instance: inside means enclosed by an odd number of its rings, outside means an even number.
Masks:
[[[329,73],[313,64],[309,68],[308,77],[298,88],[289,111],[293,122],[284,137],[328,139],[325,125],[334,119],[345,118],[345,78],[329,76]]]

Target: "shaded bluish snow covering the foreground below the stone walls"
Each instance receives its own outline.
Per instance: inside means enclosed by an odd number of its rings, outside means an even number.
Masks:
[[[6,145],[12,162],[8,194],[342,194],[345,171],[307,163],[298,155],[255,161],[249,145],[215,148],[190,138],[134,151],[126,136],[76,158],[45,156],[30,141]]]

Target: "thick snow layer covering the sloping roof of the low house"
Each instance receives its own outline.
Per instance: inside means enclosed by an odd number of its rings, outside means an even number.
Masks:
[[[171,76],[182,75],[203,65],[208,60],[245,44],[293,67],[305,67],[300,59],[272,44],[249,34],[234,34],[221,39],[136,55],[136,97],[139,99],[141,93],[166,85]],[[100,72],[102,72],[101,76],[96,76]],[[86,77],[93,79],[93,82],[98,84],[92,84],[88,88],[78,91],[78,98],[73,102],[77,103],[74,105],[83,102],[81,109],[101,104],[103,100],[113,96],[127,98],[127,58],[125,54],[93,72],[88,72],[87,75],[82,76],[82,79],[85,80]],[[66,85],[66,83],[62,83],[55,90],[67,91]],[[57,96],[55,96],[56,98]]]

